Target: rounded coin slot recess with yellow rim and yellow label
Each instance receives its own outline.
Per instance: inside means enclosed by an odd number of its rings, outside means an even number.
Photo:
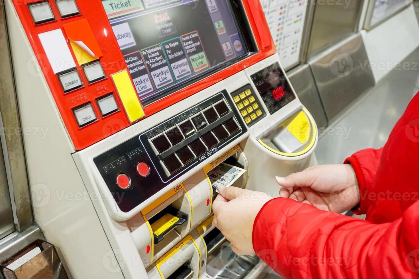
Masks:
[[[257,140],[276,154],[299,156],[313,147],[316,132],[313,118],[305,108],[300,108],[262,133]]]

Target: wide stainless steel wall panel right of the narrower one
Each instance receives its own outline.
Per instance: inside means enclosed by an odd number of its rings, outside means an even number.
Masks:
[[[375,85],[362,36],[356,34],[308,61],[329,122]]]

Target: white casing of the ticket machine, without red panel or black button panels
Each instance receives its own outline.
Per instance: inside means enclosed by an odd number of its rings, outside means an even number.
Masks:
[[[247,169],[246,177],[235,186],[278,195],[275,176],[286,176],[316,164],[317,127],[296,97],[276,113],[267,113],[246,133],[218,149],[134,210],[119,212],[112,207],[113,197],[93,163],[96,156],[222,90],[230,93],[252,84],[257,92],[250,76],[279,62],[279,56],[272,55],[88,148],[76,151],[39,71],[21,22],[13,5],[10,2],[8,5],[13,64],[15,72],[19,73],[16,75],[16,91],[22,126],[39,127],[39,131],[45,131],[41,136],[23,135],[34,216],[47,240],[57,247],[72,278],[168,278],[186,261],[190,262],[192,272],[185,278],[211,278],[206,271],[208,251],[204,236],[215,226],[211,222],[213,192],[206,172],[235,156]],[[260,98],[257,94],[256,97]],[[261,104],[267,111],[264,103]],[[261,144],[259,138],[262,134],[303,110],[311,121],[309,148],[289,156]],[[209,205],[207,200],[210,200]],[[168,205],[189,212],[192,217],[165,235],[164,241],[153,245],[147,221]],[[246,278],[256,278],[268,271],[260,261]]]

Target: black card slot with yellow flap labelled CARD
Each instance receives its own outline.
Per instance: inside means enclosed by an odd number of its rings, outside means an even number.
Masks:
[[[160,211],[149,220],[153,230],[154,244],[163,241],[164,236],[174,228],[184,224],[188,220],[188,215],[171,205]]]

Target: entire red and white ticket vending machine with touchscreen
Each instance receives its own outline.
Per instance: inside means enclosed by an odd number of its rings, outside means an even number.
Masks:
[[[256,278],[212,222],[209,172],[278,195],[316,123],[248,0],[8,0],[37,224],[73,278]],[[39,71],[36,71],[39,69]],[[301,81],[304,82],[304,81]]]

